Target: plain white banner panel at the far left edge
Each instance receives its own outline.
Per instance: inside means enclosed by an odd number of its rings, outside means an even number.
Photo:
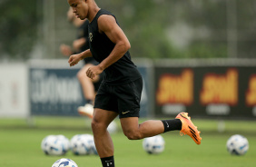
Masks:
[[[0,117],[27,118],[29,103],[26,64],[1,64],[0,76]]]

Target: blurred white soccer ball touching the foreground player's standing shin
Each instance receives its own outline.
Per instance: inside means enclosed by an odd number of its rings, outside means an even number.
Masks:
[[[75,155],[97,154],[92,134],[76,134],[70,142]]]

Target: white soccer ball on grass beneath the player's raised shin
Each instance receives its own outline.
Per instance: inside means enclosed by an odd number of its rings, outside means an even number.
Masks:
[[[156,135],[153,137],[147,137],[143,139],[143,150],[150,154],[158,154],[164,150],[164,140],[162,135]]]

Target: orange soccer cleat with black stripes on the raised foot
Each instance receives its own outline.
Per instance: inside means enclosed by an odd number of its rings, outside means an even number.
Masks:
[[[176,119],[180,119],[182,122],[182,130],[180,132],[182,134],[188,134],[191,136],[192,140],[201,144],[202,137],[200,137],[200,131],[197,130],[197,127],[192,123],[191,117],[188,116],[188,113],[179,113],[176,116]]]

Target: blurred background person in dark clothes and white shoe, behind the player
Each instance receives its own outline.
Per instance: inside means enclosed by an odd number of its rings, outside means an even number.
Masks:
[[[74,24],[77,27],[77,39],[74,40],[73,46],[69,46],[67,44],[60,45],[60,51],[62,54],[66,56],[70,56],[71,54],[81,53],[89,48],[88,43],[88,25],[89,21],[87,19],[81,20],[76,18],[73,14],[72,8],[70,7],[67,12],[67,19],[69,22]],[[81,115],[86,115],[90,118],[93,118],[94,113],[94,98],[95,93],[98,90],[98,87],[102,81],[102,75],[98,75],[94,79],[87,77],[86,71],[89,67],[98,64],[93,57],[84,58],[84,66],[77,74],[77,78],[81,83],[84,98],[87,103],[84,106],[78,107],[78,113]]]

